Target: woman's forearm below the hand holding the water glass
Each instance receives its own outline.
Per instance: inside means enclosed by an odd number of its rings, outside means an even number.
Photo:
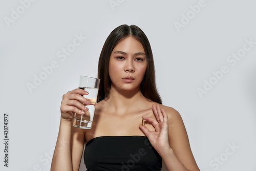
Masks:
[[[52,158],[51,171],[71,171],[71,121],[60,120],[59,134]]]

